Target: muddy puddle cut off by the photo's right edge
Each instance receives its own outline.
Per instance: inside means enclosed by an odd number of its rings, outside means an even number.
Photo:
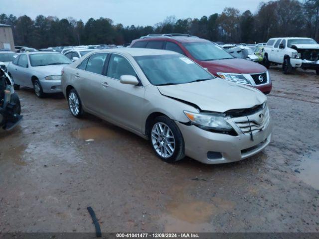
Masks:
[[[296,166],[297,176],[306,184],[319,190],[319,151],[302,159]]]

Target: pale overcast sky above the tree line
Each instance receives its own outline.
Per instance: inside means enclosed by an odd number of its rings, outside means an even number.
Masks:
[[[115,24],[155,25],[167,16],[200,18],[221,13],[225,7],[255,12],[262,0],[0,0],[0,14],[111,18]],[[269,1],[269,0],[263,0]]]

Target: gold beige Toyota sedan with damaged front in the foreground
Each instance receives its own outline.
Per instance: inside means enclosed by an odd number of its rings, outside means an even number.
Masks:
[[[234,162],[271,140],[267,98],[215,78],[171,51],[95,51],[64,67],[70,112],[96,115],[146,139],[162,160],[185,155],[207,164]]]

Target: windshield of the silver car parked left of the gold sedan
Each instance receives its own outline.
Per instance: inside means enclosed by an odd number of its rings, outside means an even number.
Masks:
[[[70,64],[72,61],[60,53],[43,53],[30,55],[31,66],[48,66]]]

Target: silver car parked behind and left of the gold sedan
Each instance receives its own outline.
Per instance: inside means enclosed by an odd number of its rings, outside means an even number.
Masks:
[[[37,97],[46,93],[61,92],[61,71],[70,59],[56,52],[22,53],[8,65],[8,74],[13,79],[14,89],[20,86],[34,88]]]

